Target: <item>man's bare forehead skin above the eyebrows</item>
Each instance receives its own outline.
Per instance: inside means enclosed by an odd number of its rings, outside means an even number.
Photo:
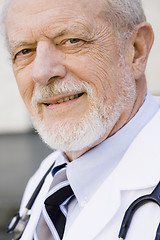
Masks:
[[[11,0],[7,14],[8,26],[37,21],[91,21],[103,15],[103,0]],[[33,22],[33,24],[34,24]]]

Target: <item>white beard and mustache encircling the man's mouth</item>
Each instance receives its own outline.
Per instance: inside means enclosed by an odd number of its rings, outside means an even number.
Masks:
[[[73,93],[76,91],[85,91],[88,96],[90,106],[84,117],[72,122],[68,119],[62,119],[53,122],[50,126],[45,124],[39,114],[37,102],[59,93]],[[98,139],[104,135],[108,136],[124,107],[128,106],[128,104],[133,105],[136,96],[135,86],[130,84],[123,93],[119,94],[116,102],[109,102],[107,106],[104,106],[104,97],[97,99],[92,92],[89,84],[75,80],[70,82],[55,80],[50,86],[37,87],[35,89],[33,106],[36,111],[34,116],[32,116],[33,125],[43,141],[52,149],[67,152],[79,151],[93,146]]]

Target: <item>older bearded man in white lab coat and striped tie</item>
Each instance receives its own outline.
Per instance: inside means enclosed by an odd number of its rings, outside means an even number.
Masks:
[[[153,31],[140,1],[11,0],[6,33],[33,124],[59,150],[30,180],[20,215],[54,162],[67,164],[73,190],[59,237],[52,170],[21,239],[118,239],[125,210],[159,181],[160,111],[144,74]],[[141,207],[127,239],[154,239],[159,217],[156,204]]]

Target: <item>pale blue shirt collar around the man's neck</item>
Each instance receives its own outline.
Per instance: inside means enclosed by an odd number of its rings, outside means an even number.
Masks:
[[[87,202],[112,173],[133,139],[157,111],[158,104],[147,92],[139,111],[116,134],[73,162],[69,163],[63,153],[59,155],[56,165],[68,162],[67,177],[80,205]]]

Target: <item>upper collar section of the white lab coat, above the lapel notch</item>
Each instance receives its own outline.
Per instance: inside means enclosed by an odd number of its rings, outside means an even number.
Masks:
[[[160,161],[160,111],[144,127],[113,172],[121,190],[138,190],[158,184]]]

